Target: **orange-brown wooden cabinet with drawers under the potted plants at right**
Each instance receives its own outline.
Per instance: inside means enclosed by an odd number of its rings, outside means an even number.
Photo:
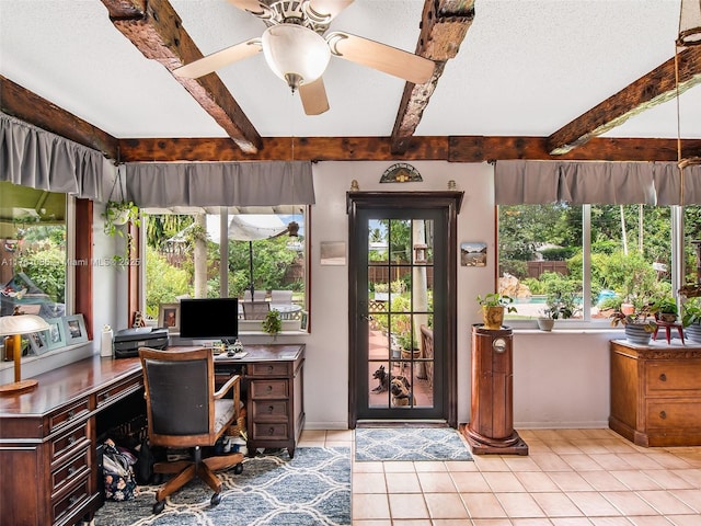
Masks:
[[[701,445],[701,346],[610,344],[609,427],[640,446]]]

